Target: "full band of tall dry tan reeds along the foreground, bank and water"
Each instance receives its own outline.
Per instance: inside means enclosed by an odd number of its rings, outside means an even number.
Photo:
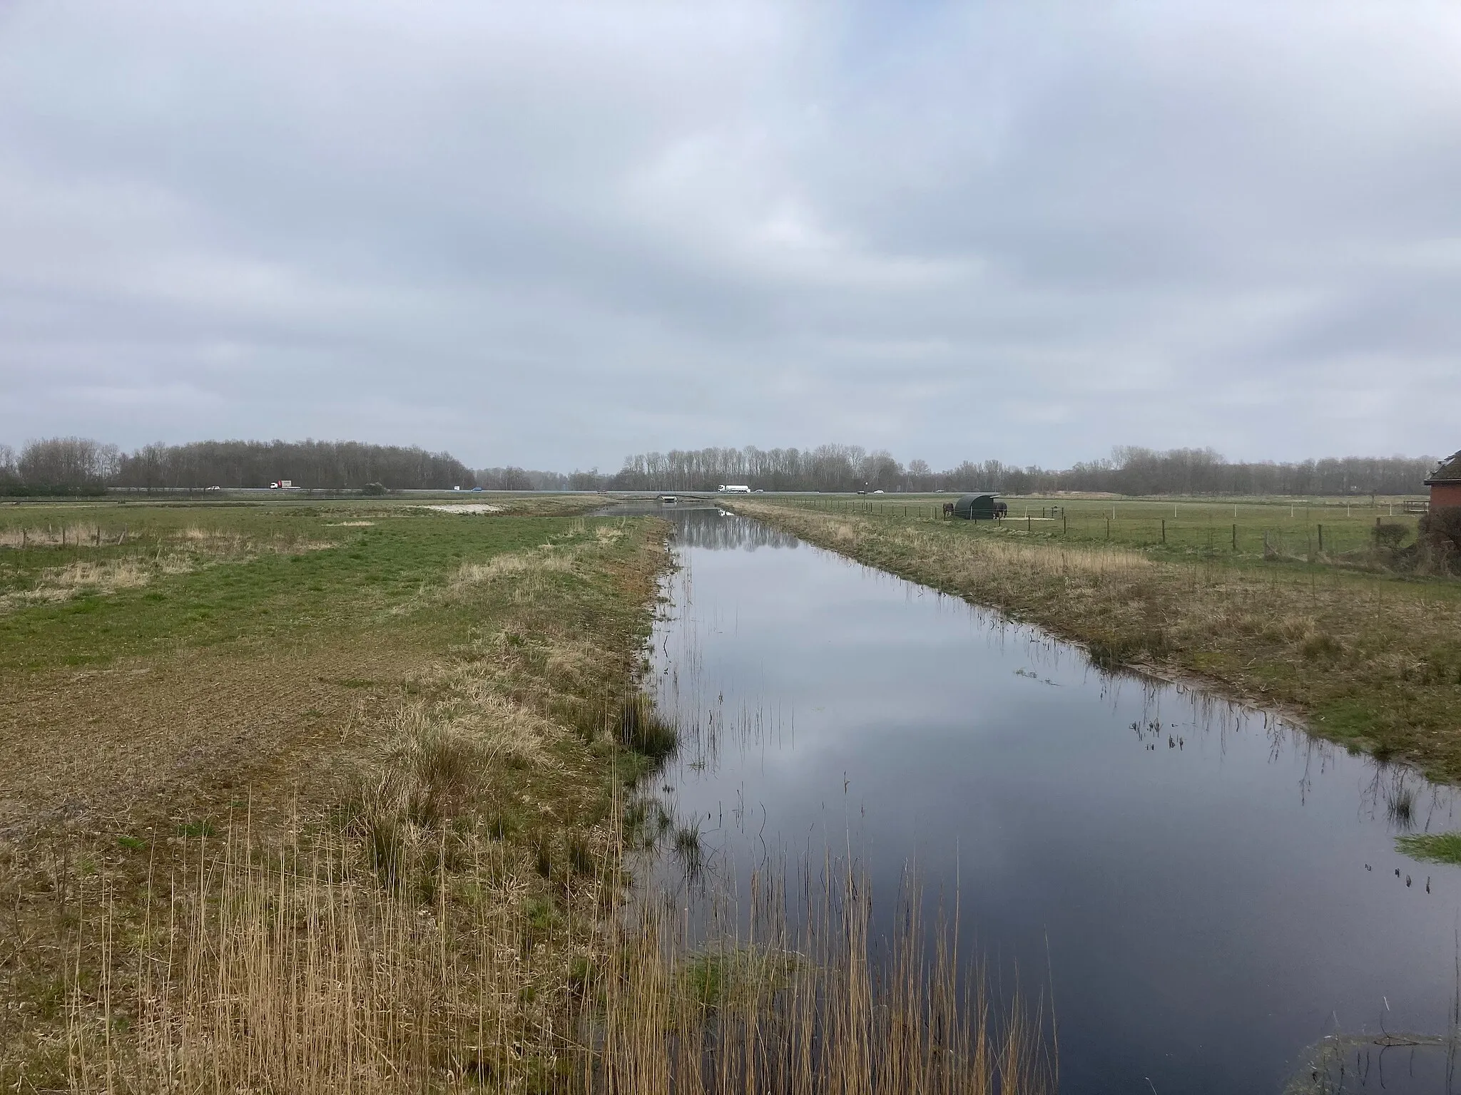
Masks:
[[[76,978],[70,1089],[1055,1091],[1039,1010],[996,1006],[916,902],[874,940],[850,872],[796,917],[761,896],[745,937],[691,945],[665,902],[617,920],[609,873],[592,915],[555,921],[498,847],[415,851],[425,892],[383,885],[343,834],[266,854],[245,825],[190,845],[130,939],[95,895],[92,937],[130,972]]]

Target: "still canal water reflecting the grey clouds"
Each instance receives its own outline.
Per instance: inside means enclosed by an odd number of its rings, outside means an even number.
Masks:
[[[697,733],[663,783],[713,869],[850,848],[888,907],[916,860],[966,953],[1053,991],[1072,1095],[1278,1092],[1325,1035],[1446,1034],[1461,870],[1394,838],[1458,828],[1451,788],[754,521],[675,520],[656,696]],[[1357,1047],[1346,1091],[1449,1091],[1443,1053]]]

